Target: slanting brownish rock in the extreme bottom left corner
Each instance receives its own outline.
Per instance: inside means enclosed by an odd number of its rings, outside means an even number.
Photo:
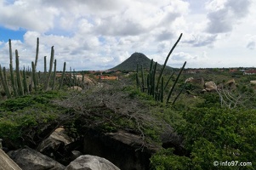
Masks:
[[[22,170],[9,156],[0,149],[0,170]]]

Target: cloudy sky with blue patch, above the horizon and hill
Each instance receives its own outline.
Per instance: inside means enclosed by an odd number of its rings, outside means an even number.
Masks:
[[[107,70],[134,52],[168,65],[256,66],[253,0],[0,0],[0,64],[9,65],[9,38],[20,66],[38,69],[54,46],[58,70]]]

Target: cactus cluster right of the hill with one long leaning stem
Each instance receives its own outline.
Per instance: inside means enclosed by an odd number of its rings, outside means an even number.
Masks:
[[[168,59],[170,57],[170,55],[173,53],[174,48],[177,46],[179,40],[182,37],[182,33],[180,34],[178,40],[175,42],[174,47],[170,50],[170,52],[168,53],[167,58],[165,59],[165,62],[162,66],[162,69],[159,73],[159,76],[157,76],[157,82],[156,82],[156,67],[157,67],[157,62],[154,62],[153,59],[151,59],[151,65],[150,65],[150,70],[147,73],[146,76],[146,84],[145,84],[145,73],[144,73],[144,69],[143,66],[140,66],[140,79],[139,80],[139,64],[137,64],[137,71],[136,71],[136,84],[137,87],[141,89],[141,92],[143,93],[147,93],[148,95],[153,96],[154,99],[156,99],[156,101],[164,101],[164,92],[166,91],[166,88],[168,87],[168,83],[170,82],[171,78],[174,76],[174,71],[173,73],[170,75],[170,77],[168,78],[168,81],[166,83],[164,83],[164,78],[162,76],[162,73],[167,65]],[[179,76],[181,74],[181,72],[184,70],[186,65],[186,61],[184,63],[184,65],[181,67],[181,69],[179,70],[179,74],[178,77],[175,79],[175,82],[172,86],[172,88],[170,89],[169,93],[168,93],[168,97],[166,99],[166,103],[169,103],[169,100],[174,92],[174,88],[176,86],[176,83],[179,80]],[[186,84],[185,84],[186,85]],[[181,92],[183,91],[184,87],[181,89],[181,91],[179,92],[179,94],[181,94]],[[172,104],[175,103],[175,101],[179,98],[179,94],[176,96],[176,98],[174,99],[174,101],[172,102]]]

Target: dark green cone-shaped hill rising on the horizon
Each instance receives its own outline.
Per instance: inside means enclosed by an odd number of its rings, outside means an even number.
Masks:
[[[137,64],[139,64],[139,68],[140,68],[140,65],[143,65],[143,68],[150,69],[151,59],[147,58],[145,54],[136,52],[132,54],[128,59],[123,61],[120,65],[117,65],[111,68],[110,70],[111,71],[135,71],[137,69]],[[157,64],[157,68],[158,69],[162,68],[162,65]]]

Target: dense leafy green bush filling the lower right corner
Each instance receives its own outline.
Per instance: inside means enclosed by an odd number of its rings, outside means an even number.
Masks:
[[[214,167],[213,161],[251,162],[253,166],[235,168],[256,168],[255,110],[194,108],[186,111],[183,116],[186,123],[178,131],[185,138],[188,156],[159,152],[151,158],[153,169],[181,169],[170,167],[176,161],[179,162],[177,165],[183,164],[185,169],[234,169],[232,166]],[[159,161],[159,157],[164,159]],[[167,159],[171,161],[168,164]]]

